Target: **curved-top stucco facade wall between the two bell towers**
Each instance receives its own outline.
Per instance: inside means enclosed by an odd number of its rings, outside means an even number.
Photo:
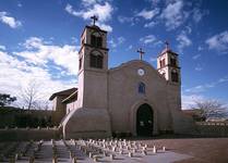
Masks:
[[[144,76],[137,70],[145,71]],[[146,93],[137,92],[139,83],[146,85]],[[109,112],[111,129],[135,135],[136,103],[147,103],[154,111],[154,134],[171,128],[171,115],[167,104],[167,83],[157,71],[144,61],[130,61],[109,71]],[[134,113],[133,113],[134,112]],[[132,115],[132,116],[131,116]]]

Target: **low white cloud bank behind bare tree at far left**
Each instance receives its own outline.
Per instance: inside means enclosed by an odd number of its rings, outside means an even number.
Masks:
[[[52,79],[52,74],[47,68],[31,65],[10,53],[0,51],[0,92],[16,96],[17,103],[22,102],[21,91],[31,80],[41,85],[39,93],[44,101],[47,101],[55,91],[75,87],[72,82]]]

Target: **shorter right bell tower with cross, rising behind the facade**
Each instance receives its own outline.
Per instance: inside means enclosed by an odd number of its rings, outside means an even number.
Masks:
[[[172,52],[166,41],[166,48],[157,58],[157,70],[170,84],[180,85],[180,67],[178,54]]]

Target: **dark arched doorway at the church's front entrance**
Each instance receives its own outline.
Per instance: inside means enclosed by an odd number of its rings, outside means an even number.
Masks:
[[[136,112],[136,134],[137,136],[152,136],[153,135],[153,120],[154,113],[152,108],[144,103]]]

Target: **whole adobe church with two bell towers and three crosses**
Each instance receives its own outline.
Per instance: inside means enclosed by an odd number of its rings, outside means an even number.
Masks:
[[[193,120],[181,111],[178,54],[168,46],[157,68],[142,60],[108,68],[107,32],[85,26],[79,51],[79,84],[56,92],[55,118],[63,138],[110,137],[112,134],[153,136],[191,134]]]

